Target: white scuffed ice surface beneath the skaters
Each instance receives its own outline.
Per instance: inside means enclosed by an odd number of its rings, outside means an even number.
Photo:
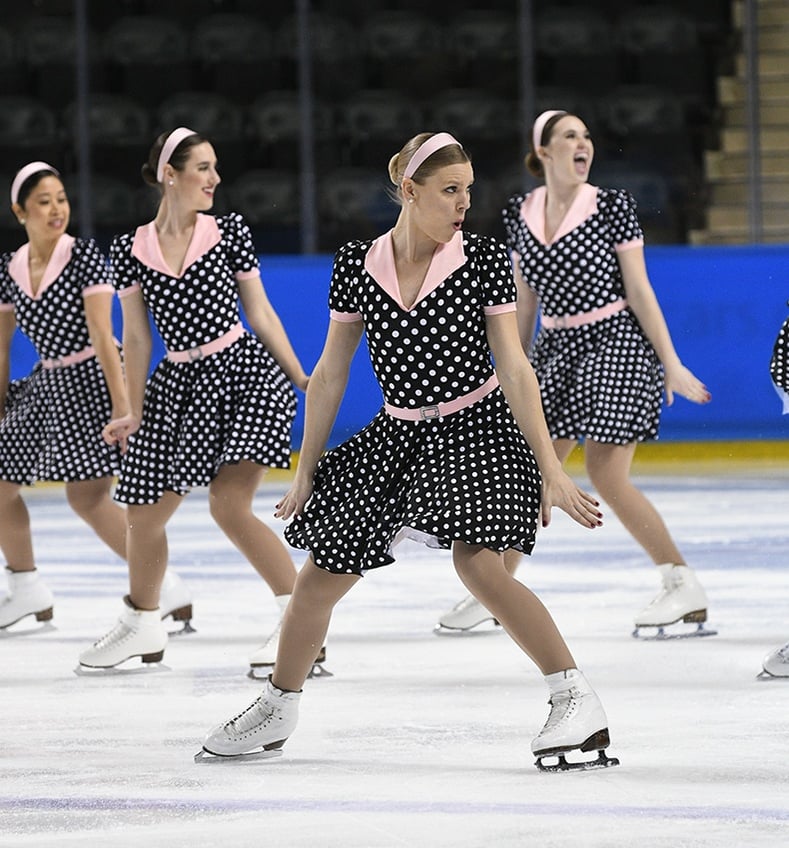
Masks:
[[[719,632],[633,639],[656,574],[611,515],[586,531],[555,514],[519,578],[600,694],[621,766],[547,775],[529,750],[547,716],[541,676],[502,633],[432,633],[464,592],[446,552],[410,542],[337,608],[334,676],[307,682],[284,756],[195,763],[206,732],[259,691],[247,656],[276,621],[268,589],[195,492],[170,549],[197,632],[153,669],[77,675],[120,611],[125,565],[60,488],[31,492],[55,617],[0,634],[0,846],[789,845],[789,679],[756,679],[789,640],[789,468],[636,479]],[[261,489],[261,517],[285,486]]]

